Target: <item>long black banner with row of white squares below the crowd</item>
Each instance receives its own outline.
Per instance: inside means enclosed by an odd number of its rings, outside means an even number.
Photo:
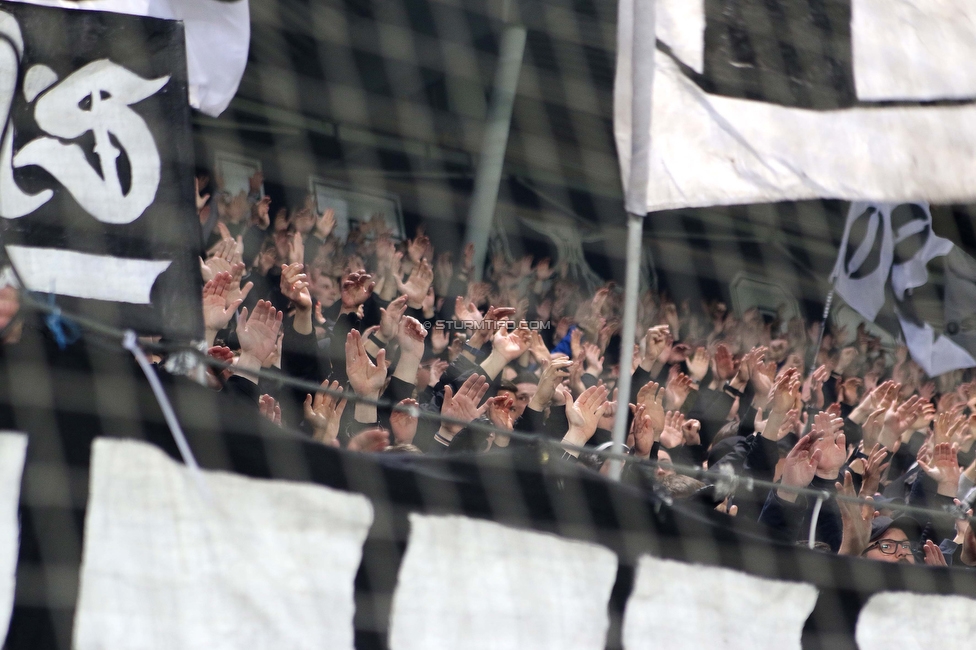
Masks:
[[[40,391],[11,374],[28,354],[0,356],[0,430],[27,431],[0,434],[8,650],[972,641],[976,571],[774,543],[545,454],[347,453],[164,376],[199,481],[122,351]]]

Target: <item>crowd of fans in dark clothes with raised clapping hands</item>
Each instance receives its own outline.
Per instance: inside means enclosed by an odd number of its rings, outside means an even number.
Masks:
[[[250,196],[198,198],[203,305],[209,353],[233,364],[212,387],[274,422],[362,452],[518,453],[530,443],[501,431],[539,434],[568,443],[567,462],[602,471],[589,450],[609,446],[626,408],[627,453],[658,461],[628,463],[626,481],[758,521],[791,543],[807,542],[815,518],[827,552],[976,566],[964,516],[976,481],[971,371],[926,377],[905,348],[887,350],[863,327],[835,328],[817,348],[819,323],[652,292],[639,305],[633,367],[621,369],[628,343],[613,286],[586,295],[565,269],[529,257],[495,260],[476,282],[471,248],[435,251],[422,230],[396,241],[380,216],[343,241],[334,214],[311,201],[272,218],[260,183]],[[254,374],[271,366],[367,401],[347,407]],[[628,396],[615,388],[622,371],[633,377]],[[778,487],[727,496],[674,469],[721,466]],[[806,487],[874,503],[818,504],[796,491]],[[946,514],[919,521],[892,510],[898,503]]]

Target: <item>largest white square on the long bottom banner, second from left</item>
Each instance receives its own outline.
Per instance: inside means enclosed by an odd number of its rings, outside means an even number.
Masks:
[[[369,499],[190,470],[152,445],[92,445],[77,650],[352,650]]]

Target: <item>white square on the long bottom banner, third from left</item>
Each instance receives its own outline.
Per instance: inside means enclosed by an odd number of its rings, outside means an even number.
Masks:
[[[391,650],[598,650],[617,556],[468,517],[410,515]]]

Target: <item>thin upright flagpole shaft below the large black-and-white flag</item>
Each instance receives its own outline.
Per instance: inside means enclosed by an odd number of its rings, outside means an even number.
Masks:
[[[631,366],[634,358],[634,340],[637,330],[637,301],[640,291],[641,243],[644,236],[644,217],[631,214],[627,217],[627,274],[624,284],[624,321],[620,333],[620,376],[617,378],[617,413],[613,419],[613,447],[623,453],[627,440],[627,419],[630,414]],[[623,463],[610,461],[610,478],[620,480]]]

